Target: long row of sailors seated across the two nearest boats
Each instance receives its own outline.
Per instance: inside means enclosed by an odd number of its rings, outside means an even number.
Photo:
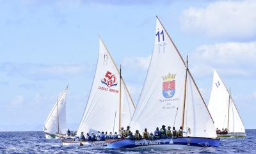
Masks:
[[[188,132],[191,132],[190,129],[188,129]],[[84,136],[84,132],[81,132],[81,135],[75,136],[74,141],[106,141],[108,139],[131,139],[131,140],[140,140],[140,139],[166,139],[166,138],[177,138],[177,137],[183,137],[183,133],[185,132],[182,127],[180,127],[179,130],[176,130],[175,127],[168,126],[167,129],[165,128],[165,125],[159,128],[157,127],[154,131],[154,134],[152,132],[148,132],[147,129],[144,130],[142,133],[142,136],[139,132],[139,130],[136,130],[134,135],[132,134],[130,127],[127,126],[127,129],[124,130],[124,127],[121,128],[120,132],[117,134],[115,132],[112,134],[112,132],[100,132],[98,131],[97,134],[94,134],[92,132],[91,134],[87,133],[86,136]]]

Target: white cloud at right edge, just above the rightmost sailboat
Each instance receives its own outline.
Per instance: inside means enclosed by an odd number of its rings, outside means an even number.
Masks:
[[[202,45],[191,54],[191,71],[197,76],[221,74],[252,77],[256,74],[256,42]]]

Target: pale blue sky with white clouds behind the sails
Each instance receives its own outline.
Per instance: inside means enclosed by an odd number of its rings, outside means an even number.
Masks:
[[[93,81],[99,36],[138,97],[156,15],[206,104],[216,69],[246,129],[256,129],[256,1],[0,0],[0,131],[42,130],[69,84],[67,124],[77,129]]]

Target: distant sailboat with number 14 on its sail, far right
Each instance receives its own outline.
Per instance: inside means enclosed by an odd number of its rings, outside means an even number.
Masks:
[[[212,81],[212,92],[208,109],[214,120],[216,129],[227,129],[227,134],[217,134],[218,137],[245,137],[246,132],[239,115],[236,104],[230,91],[214,70]]]

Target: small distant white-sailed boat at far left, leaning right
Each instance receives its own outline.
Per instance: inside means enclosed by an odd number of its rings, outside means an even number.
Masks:
[[[46,139],[64,138],[66,133],[66,100],[68,85],[55,102],[44,124]]]

